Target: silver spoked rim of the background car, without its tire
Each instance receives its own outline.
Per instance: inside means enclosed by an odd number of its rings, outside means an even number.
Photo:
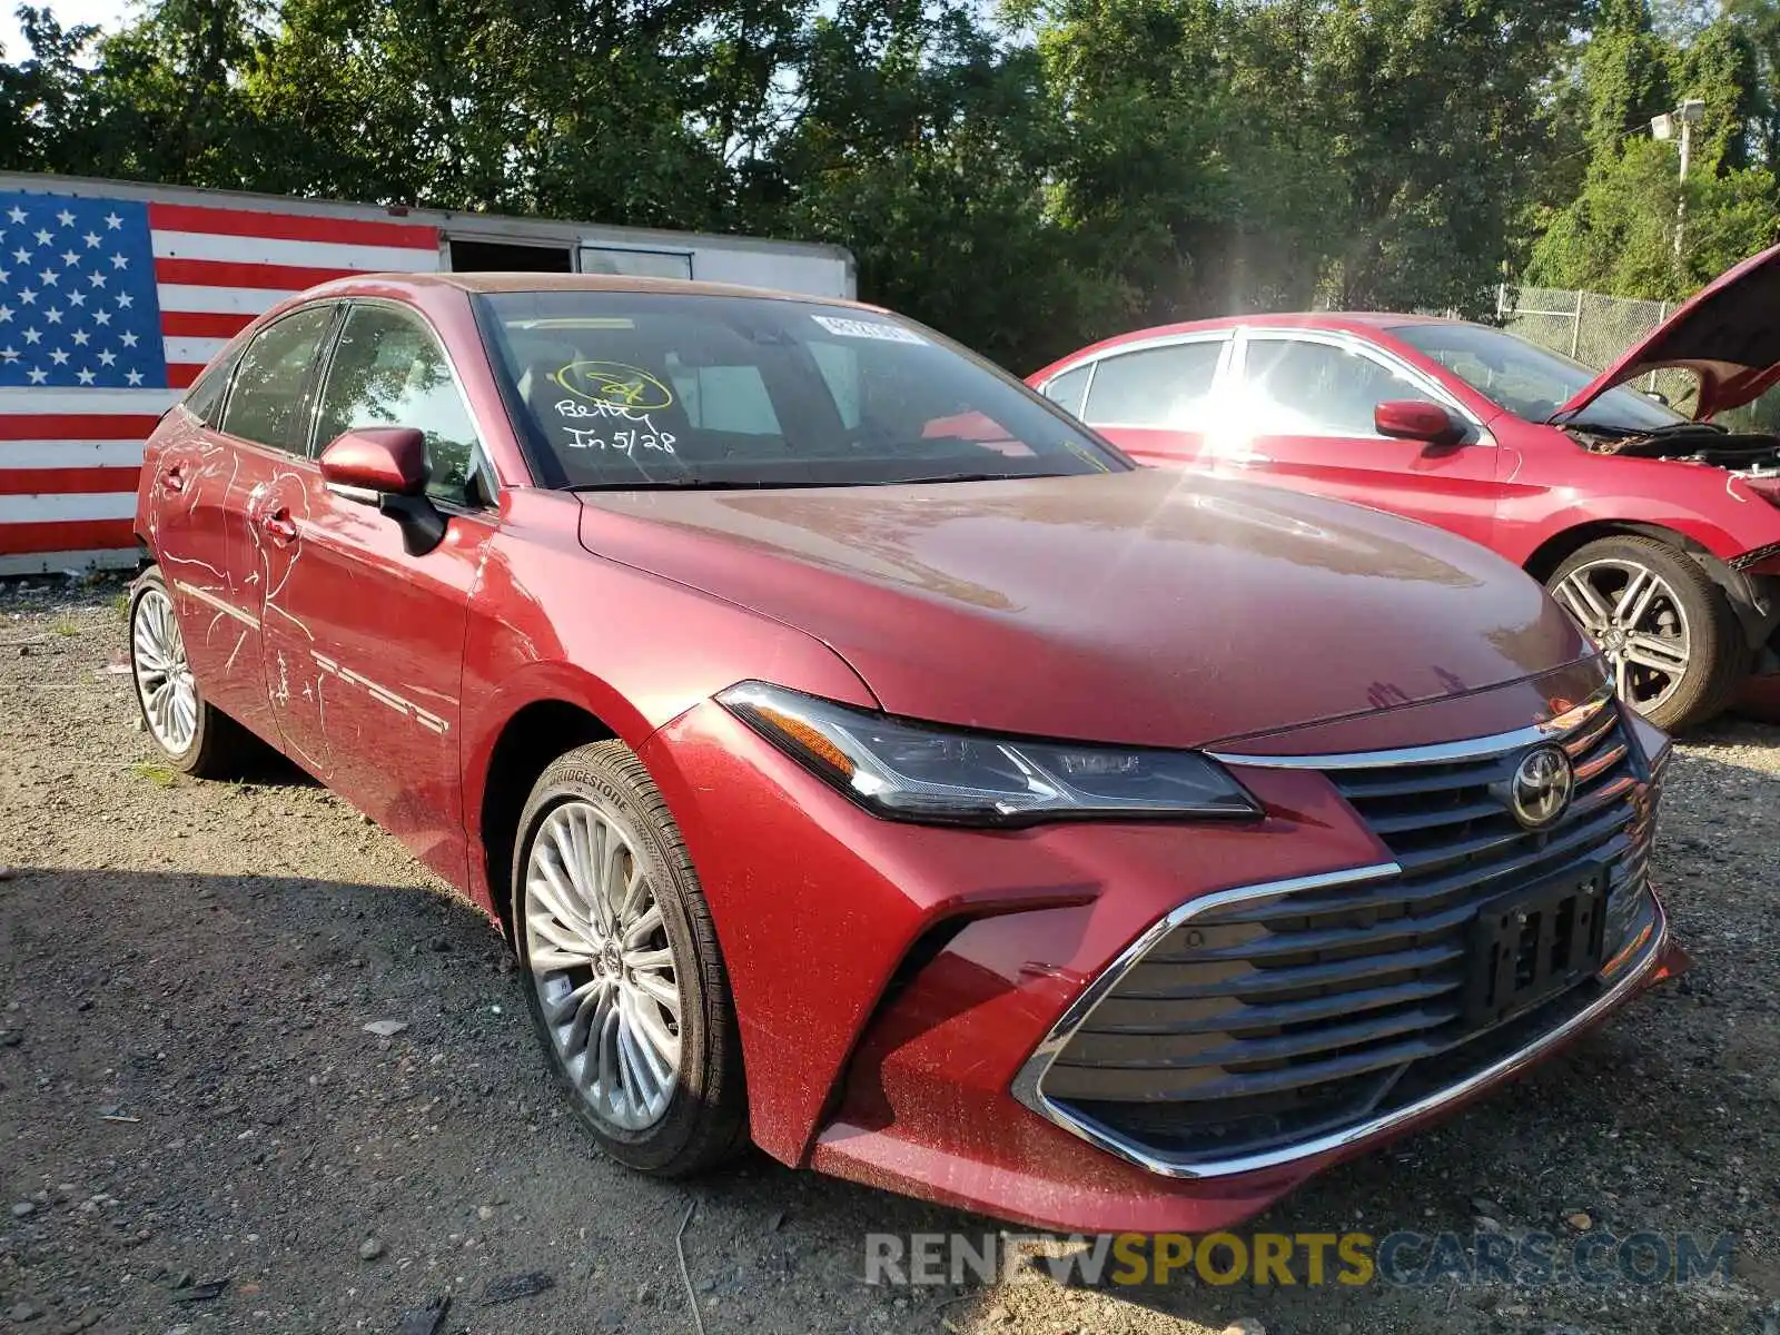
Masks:
[[[1657,571],[1636,561],[1591,561],[1552,595],[1613,666],[1620,700],[1648,714],[1675,694],[1693,637],[1680,598]]]

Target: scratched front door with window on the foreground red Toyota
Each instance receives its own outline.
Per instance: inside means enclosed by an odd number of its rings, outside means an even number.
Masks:
[[[328,785],[440,874],[463,874],[457,726],[465,618],[493,488],[445,349],[411,310],[352,303],[328,356],[315,456],[344,431],[418,429],[445,541],[409,555],[390,518],[313,459],[269,497],[265,651],[279,730]]]

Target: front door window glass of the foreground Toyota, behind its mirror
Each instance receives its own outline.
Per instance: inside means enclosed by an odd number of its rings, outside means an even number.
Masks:
[[[322,388],[317,447],[352,427],[415,427],[427,441],[427,495],[473,502],[477,440],[450,363],[418,317],[352,306]]]

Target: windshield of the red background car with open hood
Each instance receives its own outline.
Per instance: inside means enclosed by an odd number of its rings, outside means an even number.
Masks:
[[[1397,338],[1426,352],[1477,393],[1529,422],[1549,422],[1600,372],[1481,324],[1399,324]],[[1616,384],[1568,425],[1641,434],[1687,418],[1655,399]]]

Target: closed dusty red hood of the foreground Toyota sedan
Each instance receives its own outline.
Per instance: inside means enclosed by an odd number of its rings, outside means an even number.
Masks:
[[[582,502],[587,550],[819,637],[892,714],[970,728],[1203,746],[1586,651],[1481,546],[1178,472]]]

